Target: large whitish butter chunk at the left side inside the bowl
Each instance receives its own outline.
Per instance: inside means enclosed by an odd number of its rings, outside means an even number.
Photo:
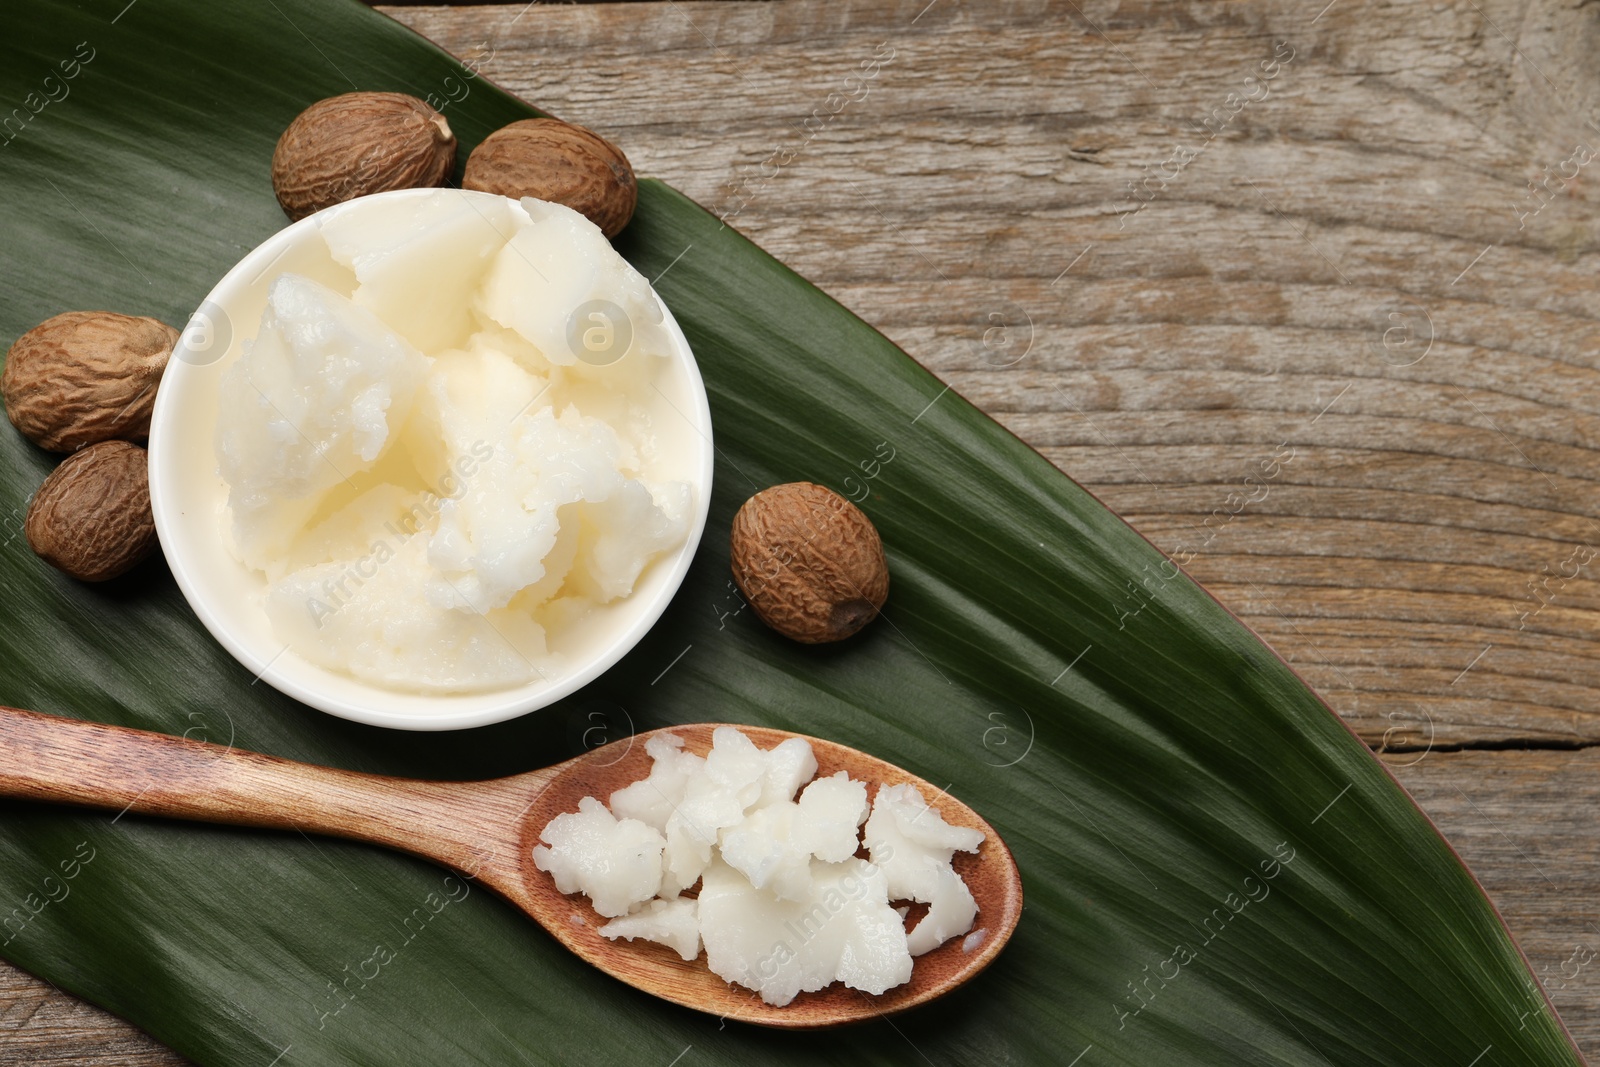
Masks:
[[[272,282],[261,331],[221,381],[218,462],[248,566],[282,573],[322,496],[378,462],[427,365],[328,286]]]

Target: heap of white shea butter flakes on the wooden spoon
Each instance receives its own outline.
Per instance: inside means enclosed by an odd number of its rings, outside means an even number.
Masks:
[[[883,993],[910,979],[912,957],[971,929],[978,909],[950,857],[976,849],[982,833],[949,825],[914,787],[880,787],[869,805],[867,784],[845,771],[813,777],[803,737],[763,750],[733,726],[712,733],[706,757],[675,734],[653,736],[645,753],[650,774],[611,793],[610,814],[661,830],[662,848],[650,851],[661,859],[661,888],[602,926],[603,936],[656,941],[685,960],[704,945],[715,974],[787,1005],[834,982]],[[578,816],[557,816],[549,829],[560,822],[565,835],[576,824],[563,819],[592,819],[600,830],[586,838],[586,869],[621,870],[632,862],[626,849],[603,859],[594,851],[610,832],[600,813],[586,797]],[[862,824],[872,859],[856,856]],[[646,873],[622,896],[643,893]],[[682,896],[694,881],[698,896]],[[563,893],[582,891],[566,888],[576,885],[573,875],[557,880]],[[907,933],[907,909],[893,901],[912,893],[930,909]]]

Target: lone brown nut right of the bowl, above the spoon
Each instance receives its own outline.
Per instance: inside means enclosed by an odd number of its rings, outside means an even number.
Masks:
[[[762,622],[806,645],[850,637],[890,595],[872,520],[810,482],[763,490],[733,517],[733,581]]]

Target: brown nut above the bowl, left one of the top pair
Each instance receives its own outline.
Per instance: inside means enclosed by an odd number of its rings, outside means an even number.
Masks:
[[[445,184],[456,134],[405,93],[346,93],[317,101],[272,152],[272,189],[291,219],[389,189]]]

